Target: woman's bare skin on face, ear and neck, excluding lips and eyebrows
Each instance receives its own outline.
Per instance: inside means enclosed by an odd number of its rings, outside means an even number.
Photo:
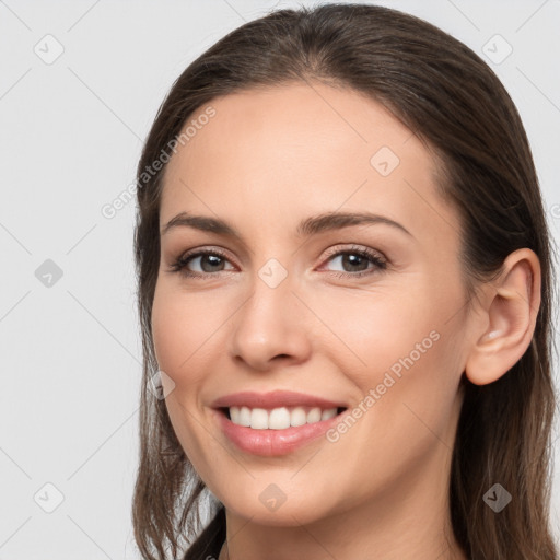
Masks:
[[[218,217],[243,242],[188,226],[163,234],[152,329],[160,369],[173,381],[164,383],[174,430],[226,509],[220,560],[287,560],[294,550],[310,560],[466,559],[447,497],[459,381],[491,383],[527,349],[538,258],[529,249],[510,255],[467,306],[459,215],[435,191],[431,152],[382,105],[319,83],[211,105],[215,117],[167,165],[160,224],[182,211]],[[400,160],[387,176],[370,163],[381,147]],[[311,215],[363,210],[411,235],[386,224],[295,233]],[[345,264],[337,252],[352,246],[371,248],[387,268]],[[206,278],[170,271],[192,248],[221,248],[226,258],[191,260]],[[271,258],[288,273],[276,288],[259,277]],[[364,270],[372,273],[355,277]],[[439,340],[336,442],[250,455],[210,409],[225,394],[281,388],[352,410],[432,331]],[[276,511],[259,500],[270,483],[285,494]]]

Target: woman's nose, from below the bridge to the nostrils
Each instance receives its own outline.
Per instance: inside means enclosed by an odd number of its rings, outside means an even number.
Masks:
[[[293,293],[290,276],[271,288],[255,277],[253,294],[232,317],[231,354],[257,371],[298,364],[308,359],[310,311]]]

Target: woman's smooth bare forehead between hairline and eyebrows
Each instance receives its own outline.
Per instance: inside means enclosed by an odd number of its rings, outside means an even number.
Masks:
[[[343,207],[383,212],[412,233],[433,236],[441,234],[445,215],[454,220],[435,191],[430,151],[363,94],[294,83],[209,105],[212,118],[200,119],[207,106],[189,117],[184,130],[196,131],[167,164],[162,223],[187,210],[285,228]]]

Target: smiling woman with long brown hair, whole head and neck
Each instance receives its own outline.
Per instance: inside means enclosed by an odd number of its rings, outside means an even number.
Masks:
[[[178,78],[138,183],[144,558],[557,558],[549,233],[478,56],[273,12]]]

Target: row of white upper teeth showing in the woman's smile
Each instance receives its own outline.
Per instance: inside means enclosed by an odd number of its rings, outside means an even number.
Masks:
[[[254,430],[285,430],[290,427],[312,424],[328,420],[337,416],[336,408],[322,410],[318,407],[306,410],[303,407],[295,408],[264,408],[230,407],[230,418],[234,424],[245,425]]]

